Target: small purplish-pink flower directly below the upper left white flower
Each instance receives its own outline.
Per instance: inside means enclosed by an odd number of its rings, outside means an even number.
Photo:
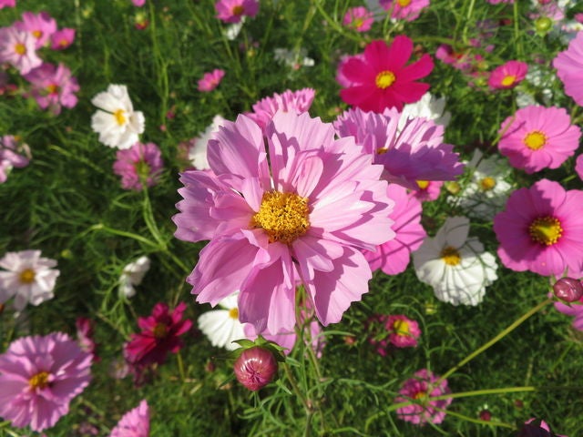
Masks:
[[[121,187],[141,191],[158,184],[164,168],[160,149],[154,143],[136,143],[132,147],[118,150],[113,171],[121,176]]]

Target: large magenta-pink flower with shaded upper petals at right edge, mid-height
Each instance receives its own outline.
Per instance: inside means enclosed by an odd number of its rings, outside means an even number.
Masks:
[[[498,256],[508,269],[560,276],[583,270],[583,191],[539,180],[517,189],[494,218]]]

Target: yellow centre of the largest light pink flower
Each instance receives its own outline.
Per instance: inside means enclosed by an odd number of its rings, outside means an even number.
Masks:
[[[308,198],[293,193],[266,191],[250,226],[265,230],[270,243],[280,241],[290,244],[310,228],[308,201]]]

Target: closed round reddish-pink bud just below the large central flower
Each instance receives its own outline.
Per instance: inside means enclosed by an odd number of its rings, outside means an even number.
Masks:
[[[242,351],[234,365],[237,380],[251,391],[258,391],[271,382],[277,368],[273,353],[260,346]]]

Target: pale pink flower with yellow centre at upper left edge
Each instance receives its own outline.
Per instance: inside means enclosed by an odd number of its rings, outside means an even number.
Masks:
[[[11,64],[22,75],[43,63],[36,55],[35,45],[36,39],[32,34],[15,26],[0,27],[0,62]]]

